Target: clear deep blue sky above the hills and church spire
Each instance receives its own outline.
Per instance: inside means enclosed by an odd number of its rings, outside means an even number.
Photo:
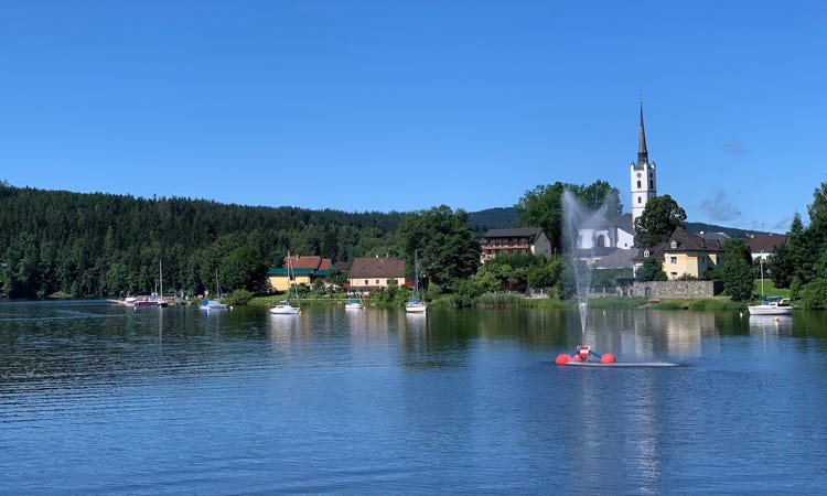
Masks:
[[[0,180],[347,212],[608,181],[786,231],[827,181],[825,1],[0,0]]]

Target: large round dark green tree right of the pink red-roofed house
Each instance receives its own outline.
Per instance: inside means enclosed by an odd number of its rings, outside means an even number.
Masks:
[[[480,242],[468,226],[468,213],[453,212],[441,205],[408,214],[399,225],[398,236],[412,274],[415,252],[420,277],[450,288],[458,279],[468,279],[480,266]]]

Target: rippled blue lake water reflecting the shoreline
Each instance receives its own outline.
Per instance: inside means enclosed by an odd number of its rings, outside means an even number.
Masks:
[[[827,494],[826,328],[3,302],[0,493]]]

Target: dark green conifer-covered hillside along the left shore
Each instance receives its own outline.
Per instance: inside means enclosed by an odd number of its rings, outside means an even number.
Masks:
[[[334,261],[386,252],[401,218],[0,183],[0,293],[147,293],[160,262],[165,289],[198,293],[218,270],[223,289],[257,290],[288,250]]]

